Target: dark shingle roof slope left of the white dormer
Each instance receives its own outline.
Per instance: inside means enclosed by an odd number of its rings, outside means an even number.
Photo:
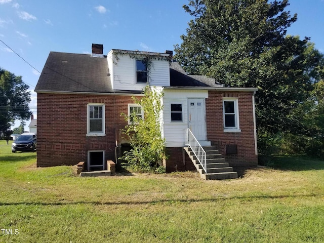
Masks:
[[[112,89],[106,57],[61,52],[50,52],[35,91],[129,93]]]

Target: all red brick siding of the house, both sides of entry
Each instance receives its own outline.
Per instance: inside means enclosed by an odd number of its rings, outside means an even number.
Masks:
[[[238,98],[239,133],[224,133],[223,97]],[[87,137],[87,104],[105,104],[106,136]],[[127,125],[121,113],[128,113],[131,96],[37,94],[37,166],[76,165],[88,160],[88,150],[105,150],[105,160],[115,161],[120,130]],[[209,91],[206,99],[207,138],[236,171],[255,167],[253,105],[251,92]],[[226,155],[226,145],[236,144],[237,154]],[[167,148],[167,172],[195,170],[183,148]]]

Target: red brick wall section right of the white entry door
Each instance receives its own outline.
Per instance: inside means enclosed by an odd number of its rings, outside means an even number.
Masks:
[[[237,170],[255,167],[258,157],[255,154],[252,92],[209,91],[206,99],[207,139],[216,146],[226,162]],[[238,98],[238,133],[224,133],[223,97]],[[226,155],[226,144],[236,144],[237,154]]]

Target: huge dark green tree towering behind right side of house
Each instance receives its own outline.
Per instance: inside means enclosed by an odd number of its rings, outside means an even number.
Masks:
[[[319,79],[322,55],[309,38],[286,36],[297,20],[288,0],[192,0],[194,17],[175,59],[189,74],[214,77],[232,87],[257,87],[261,133],[296,130],[291,112]]]

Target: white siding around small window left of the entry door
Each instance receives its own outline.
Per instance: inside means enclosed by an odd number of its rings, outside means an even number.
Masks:
[[[164,137],[167,147],[182,147],[188,128],[188,98],[208,98],[207,90],[164,89]],[[171,121],[171,104],[182,104],[182,121]]]

